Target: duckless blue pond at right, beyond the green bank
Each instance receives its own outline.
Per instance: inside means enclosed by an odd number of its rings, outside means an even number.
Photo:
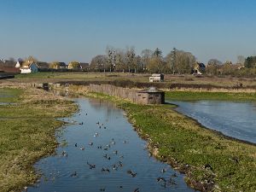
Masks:
[[[171,101],[169,101],[171,102]],[[171,102],[176,110],[224,135],[256,143],[255,102]]]

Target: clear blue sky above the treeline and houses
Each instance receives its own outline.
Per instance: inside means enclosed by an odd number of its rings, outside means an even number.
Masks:
[[[256,54],[255,0],[0,0],[0,58],[90,62],[107,45],[198,61]]]

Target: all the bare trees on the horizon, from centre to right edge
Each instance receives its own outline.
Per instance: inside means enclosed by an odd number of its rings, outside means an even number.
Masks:
[[[133,47],[126,49],[107,47],[106,53],[106,55],[96,55],[91,60],[91,72],[189,74],[193,73],[199,63],[192,53],[175,48],[165,56],[159,48],[143,49],[141,54],[137,55]],[[256,56],[245,58],[238,55],[236,63],[210,59],[201,73],[254,77],[256,76]]]

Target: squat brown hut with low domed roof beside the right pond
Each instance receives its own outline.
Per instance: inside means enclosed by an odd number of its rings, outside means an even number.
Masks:
[[[165,92],[155,87],[137,91],[137,102],[141,104],[165,103]]]

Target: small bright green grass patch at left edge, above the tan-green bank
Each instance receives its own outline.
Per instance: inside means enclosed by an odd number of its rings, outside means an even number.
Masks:
[[[18,102],[22,90],[11,88],[0,88],[0,102]]]

